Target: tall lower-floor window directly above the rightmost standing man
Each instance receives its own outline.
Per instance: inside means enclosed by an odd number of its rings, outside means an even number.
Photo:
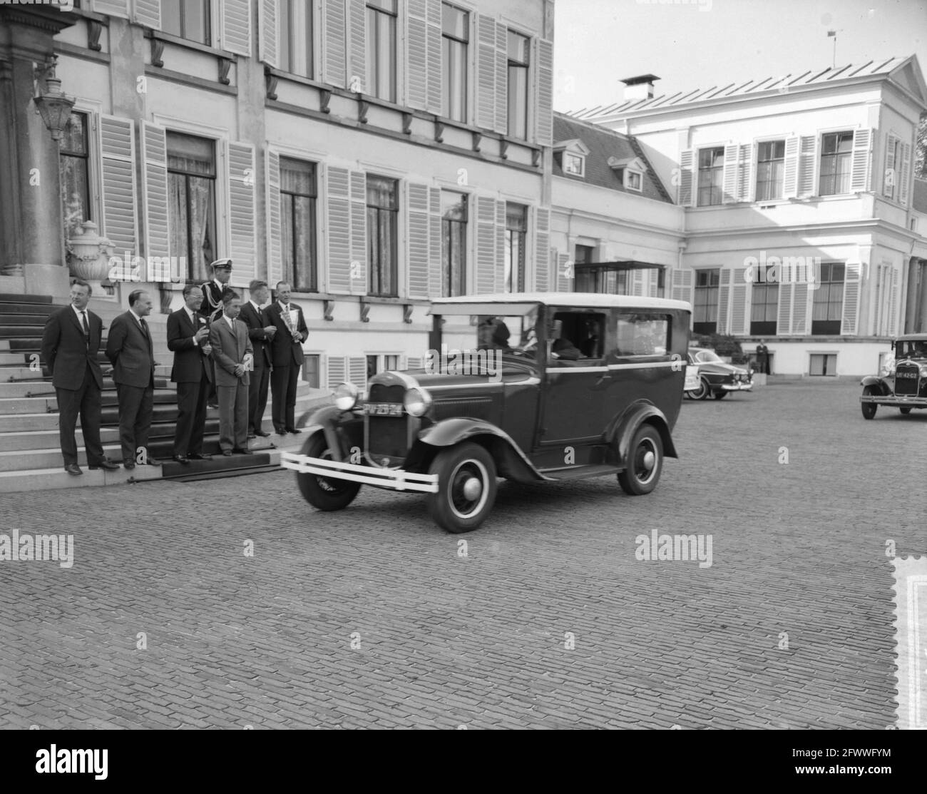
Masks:
[[[319,268],[315,256],[317,198],[315,164],[280,158],[283,280],[295,292],[319,290]]]

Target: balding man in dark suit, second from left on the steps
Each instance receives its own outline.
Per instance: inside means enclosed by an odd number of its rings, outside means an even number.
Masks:
[[[119,437],[122,465],[126,468],[160,466],[148,454],[155,396],[155,359],[151,332],[145,318],[151,314],[151,297],[144,289],[129,294],[129,311],[119,314],[109,328],[107,358],[116,368],[113,379],[119,397]]]

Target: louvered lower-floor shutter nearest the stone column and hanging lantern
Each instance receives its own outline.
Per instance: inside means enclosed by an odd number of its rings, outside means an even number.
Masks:
[[[103,165],[103,229],[119,257],[137,254],[135,210],[135,138],[133,122],[114,116],[100,117],[100,153]]]

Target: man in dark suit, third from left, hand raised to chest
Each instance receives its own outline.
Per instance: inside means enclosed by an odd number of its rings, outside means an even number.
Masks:
[[[177,384],[177,428],[173,459],[178,463],[210,460],[203,455],[206,399],[212,380],[210,329],[197,312],[202,292],[195,284],[184,287],[184,308],[168,317],[168,350],[173,351],[171,380]]]

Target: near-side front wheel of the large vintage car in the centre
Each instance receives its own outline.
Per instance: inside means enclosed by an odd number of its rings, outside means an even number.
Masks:
[[[486,520],[496,501],[496,464],[483,447],[467,442],[442,450],[428,473],[438,475],[438,493],[427,503],[441,529],[470,532]]]

